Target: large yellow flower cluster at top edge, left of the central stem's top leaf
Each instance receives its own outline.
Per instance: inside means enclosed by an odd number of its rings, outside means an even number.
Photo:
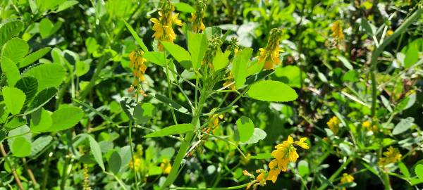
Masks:
[[[161,11],[159,11],[160,18],[152,18],[150,21],[154,23],[153,30],[154,39],[163,42],[173,42],[176,39],[176,34],[173,31],[172,25],[175,23],[176,25],[182,26],[182,21],[178,19],[179,13],[173,14],[175,11],[175,6],[171,3],[171,1],[164,1],[161,5]],[[158,43],[159,51],[163,51],[163,45]]]

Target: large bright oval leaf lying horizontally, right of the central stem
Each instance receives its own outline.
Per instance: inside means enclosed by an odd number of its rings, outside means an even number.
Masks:
[[[298,95],[295,90],[282,82],[273,80],[262,80],[252,84],[247,91],[252,99],[260,101],[293,101]]]

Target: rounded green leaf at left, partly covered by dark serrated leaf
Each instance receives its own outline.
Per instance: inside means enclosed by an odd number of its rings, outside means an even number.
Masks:
[[[23,75],[32,76],[38,80],[38,90],[46,89],[48,87],[59,87],[65,78],[65,69],[63,66],[56,63],[45,63],[30,68]]]

